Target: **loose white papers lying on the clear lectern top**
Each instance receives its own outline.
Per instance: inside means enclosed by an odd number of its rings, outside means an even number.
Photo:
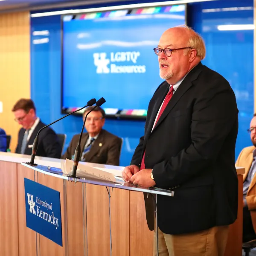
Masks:
[[[73,161],[66,159],[65,163],[61,162],[61,170],[66,175],[71,175],[73,170]],[[104,180],[114,183],[124,183],[121,177],[115,177],[111,172],[105,172],[102,169],[87,166],[79,163],[76,171],[77,177],[83,177],[94,180]]]

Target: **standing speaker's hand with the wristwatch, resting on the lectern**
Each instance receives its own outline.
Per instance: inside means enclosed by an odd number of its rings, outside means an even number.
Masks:
[[[143,169],[140,172],[135,173],[130,181],[134,185],[139,185],[145,188],[150,188],[151,186],[155,186],[155,181],[151,178],[152,169]]]

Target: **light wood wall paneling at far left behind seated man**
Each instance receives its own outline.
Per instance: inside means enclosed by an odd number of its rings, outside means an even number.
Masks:
[[[15,151],[20,126],[12,107],[20,98],[30,98],[30,17],[29,12],[0,14],[0,127],[12,135]]]

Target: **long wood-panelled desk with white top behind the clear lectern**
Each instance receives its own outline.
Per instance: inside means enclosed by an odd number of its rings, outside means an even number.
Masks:
[[[36,172],[21,162],[30,156],[0,152],[0,253],[8,256],[151,256],[153,235],[145,220],[143,193],[104,186],[71,182],[54,175]],[[58,159],[36,157],[35,163],[60,168]],[[122,172],[123,167],[85,163]],[[239,211],[230,225],[225,256],[241,256],[242,243],[242,174],[239,177]],[[63,247],[26,227],[24,177],[55,189],[61,194]],[[63,182],[64,181],[64,182]],[[65,198],[64,198],[65,195]],[[86,200],[85,200],[86,198]],[[84,215],[84,210],[87,214]],[[66,218],[66,222],[65,222]],[[64,224],[67,224],[66,226]],[[40,245],[40,246],[37,246]]]

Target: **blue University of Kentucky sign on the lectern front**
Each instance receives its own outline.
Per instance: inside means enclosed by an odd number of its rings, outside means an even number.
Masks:
[[[24,178],[26,226],[62,246],[60,192]]]

